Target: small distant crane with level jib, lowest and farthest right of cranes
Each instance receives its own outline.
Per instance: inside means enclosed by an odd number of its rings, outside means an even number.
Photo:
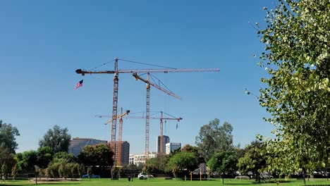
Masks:
[[[175,117],[173,117],[173,118],[164,118],[163,117],[163,111],[160,111],[160,113],[161,113],[161,116],[160,117],[154,117],[154,116],[149,116],[149,119],[156,119],[156,120],[160,120],[160,124],[159,124],[159,154],[164,154],[164,151],[163,151],[163,149],[164,149],[164,137],[163,137],[163,120],[165,120],[165,122],[166,122],[166,120],[177,120],[178,122],[180,122],[180,120],[182,120],[182,118],[175,118]],[[166,115],[169,115],[169,114],[167,114],[167,113],[165,113]],[[147,115],[147,114],[146,114]],[[98,116],[95,116],[95,117],[99,117],[99,118],[102,118],[102,117],[109,117],[109,116],[106,116],[106,115],[104,115],[104,116],[101,116],[101,115],[98,115]],[[137,118],[139,118],[139,119],[145,119],[145,118],[147,118],[147,116],[123,116],[123,117],[121,117],[121,123],[123,123],[123,121],[122,121],[122,118],[134,118],[134,119],[137,119]],[[119,136],[121,136],[121,129],[120,129],[120,127],[119,127]],[[149,135],[148,135],[149,136]],[[149,139],[148,139],[149,140]]]

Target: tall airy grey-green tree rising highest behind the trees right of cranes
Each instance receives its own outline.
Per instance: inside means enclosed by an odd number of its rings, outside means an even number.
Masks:
[[[214,153],[226,151],[233,147],[233,127],[230,123],[225,122],[219,125],[219,119],[214,119],[208,125],[200,128],[199,136],[196,137],[195,143],[202,150],[202,156],[208,161]]]

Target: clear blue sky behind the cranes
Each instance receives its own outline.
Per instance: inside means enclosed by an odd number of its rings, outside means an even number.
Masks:
[[[173,68],[220,68],[218,73],[154,73],[177,100],[151,89],[150,110],[182,117],[168,122],[171,142],[195,145],[200,127],[214,118],[233,125],[234,144],[270,135],[258,94],[264,46],[249,21],[263,24],[273,1],[1,1],[0,119],[20,131],[18,151],[37,149],[49,128],[72,137],[110,139],[113,75],[77,75],[114,58]],[[95,70],[113,70],[114,63]],[[119,68],[150,68],[120,61]],[[75,84],[84,79],[84,86]],[[145,84],[120,74],[118,107],[145,111]],[[123,121],[130,153],[145,150],[145,120]],[[165,126],[164,126],[165,128]],[[150,123],[156,151],[159,121]]]

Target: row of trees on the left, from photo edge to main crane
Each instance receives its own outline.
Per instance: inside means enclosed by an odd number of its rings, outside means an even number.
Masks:
[[[78,157],[68,154],[71,135],[58,125],[46,132],[37,150],[16,154],[18,135],[17,128],[0,120],[0,176],[15,178],[18,173],[33,173],[47,178],[81,178],[86,171],[102,172],[114,165],[109,144],[87,146]]]

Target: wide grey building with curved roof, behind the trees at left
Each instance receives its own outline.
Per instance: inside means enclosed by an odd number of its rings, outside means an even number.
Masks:
[[[80,151],[82,151],[82,148],[84,148],[87,145],[106,144],[106,143],[107,142],[105,140],[73,137],[68,147],[68,153],[72,153],[73,155],[78,156],[78,154],[80,154]]]

